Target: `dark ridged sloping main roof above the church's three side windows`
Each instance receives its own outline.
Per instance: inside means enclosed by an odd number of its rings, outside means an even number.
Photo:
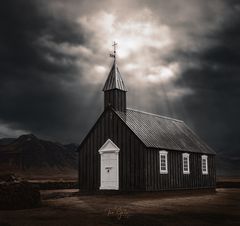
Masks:
[[[183,121],[143,111],[115,111],[149,148],[216,154]]]

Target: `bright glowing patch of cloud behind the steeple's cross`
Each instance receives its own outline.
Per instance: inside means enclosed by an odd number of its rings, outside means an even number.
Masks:
[[[98,19],[96,19],[98,18]],[[112,51],[112,43],[118,43],[117,56],[119,58],[122,74],[129,75],[128,83],[144,85],[144,83],[163,83],[178,74],[179,65],[161,65],[160,61],[149,54],[151,48],[158,49],[159,53],[168,51],[173,44],[171,31],[168,26],[159,26],[154,21],[150,10],[144,9],[129,20],[121,21],[113,14],[100,12],[97,15],[78,18],[78,23],[88,32],[92,33],[89,48],[101,46],[102,54]],[[108,51],[108,52],[106,52]],[[92,56],[96,57],[96,56]],[[105,58],[103,56],[103,58]],[[108,73],[105,65],[95,65],[98,76],[88,77],[89,82],[103,83]],[[94,78],[93,80],[91,78]]]

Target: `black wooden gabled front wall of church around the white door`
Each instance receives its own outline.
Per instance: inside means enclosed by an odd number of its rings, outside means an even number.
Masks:
[[[145,190],[145,149],[132,131],[112,111],[106,110],[79,149],[79,188],[96,191],[100,187],[98,150],[111,139],[119,148],[119,190]]]

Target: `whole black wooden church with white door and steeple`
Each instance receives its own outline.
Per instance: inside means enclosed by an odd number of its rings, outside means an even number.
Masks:
[[[215,152],[183,121],[127,108],[113,57],[104,111],[78,148],[80,191],[215,189]]]

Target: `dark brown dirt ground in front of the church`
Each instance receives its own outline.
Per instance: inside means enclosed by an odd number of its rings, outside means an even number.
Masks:
[[[0,211],[0,226],[240,225],[240,189],[211,194],[77,195],[43,191],[43,207]]]

